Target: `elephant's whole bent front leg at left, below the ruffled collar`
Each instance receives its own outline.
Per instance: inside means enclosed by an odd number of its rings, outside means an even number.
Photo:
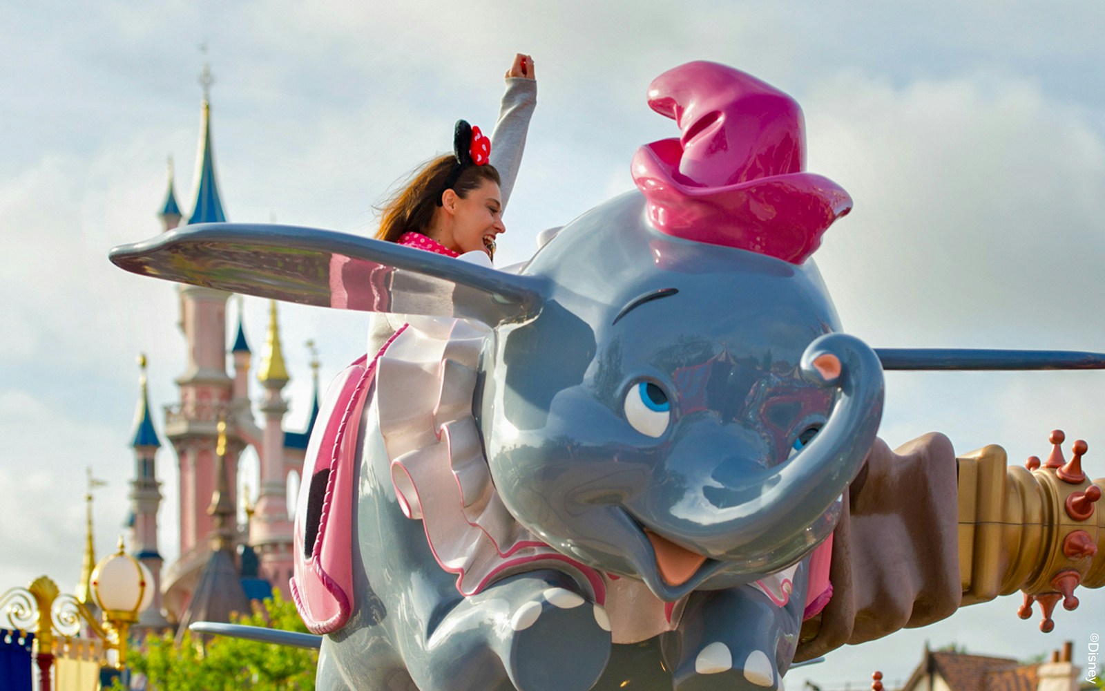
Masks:
[[[569,577],[534,572],[455,603],[406,660],[423,691],[585,691],[610,657],[609,628]]]

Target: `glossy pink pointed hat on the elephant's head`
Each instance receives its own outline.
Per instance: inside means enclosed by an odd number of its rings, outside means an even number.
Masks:
[[[649,105],[682,132],[633,157],[633,180],[661,232],[801,264],[851,210],[840,186],[806,172],[802,112],[781,91],[691,62],[653,80]]]

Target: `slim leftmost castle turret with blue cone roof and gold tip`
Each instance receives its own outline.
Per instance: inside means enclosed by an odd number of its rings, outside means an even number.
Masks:
[[[138,385],[141,397],[135,415],[135,435],[130,442],[135,450],[135,477],[130,481],[130,553],[146,565],[154,576],[154,601],[141,614],[138,626],[164,628],[168,621],[161,615],[161,565],[165,559],[157,547],[157,510],[161,505],[161,483],[157,480],[155,457],[161,441],[154,429],[149,413],[149,391],[146,384],[146,356],[138,356],[141,374]]]

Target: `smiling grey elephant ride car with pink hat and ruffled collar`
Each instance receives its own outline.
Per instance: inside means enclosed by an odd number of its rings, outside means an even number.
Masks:
[[[409,315],[330,387],[307,451],[292,585],[318,688],[774,690],[796,655],[961,604],[950,444],[875,437],[884,367],[955,365],[840,333],[810,255],[851,199],[804,170],[798,105],[705,62],[649,103],[681,136],[518,273],[275,226],[113,251]],[[916,490],[905,468],[932,500],[864,520]],[[902,552],[890,576],[869,537]]]

